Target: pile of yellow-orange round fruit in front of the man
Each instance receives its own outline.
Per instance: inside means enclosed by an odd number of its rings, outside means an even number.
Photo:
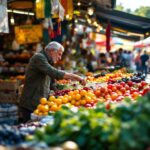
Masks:
[[[49,111],[57,111],[61,108],[62,104],[70,103],[74,106],[92,107],[97,102],[97,98],[92,90],[74,90],[70,91],[64,96],[50,96],[40,99],[40,104],[34,111],[34,114],[42,116],[47,115]]]

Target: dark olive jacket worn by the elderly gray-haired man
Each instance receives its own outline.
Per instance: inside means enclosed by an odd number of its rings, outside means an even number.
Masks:
[[[20,107],[34,111],[41,97],[48,97],[50,81],[63,79],[64,72],[52,66],[52,59],[44,50],[36,53],[29,62],[23,92],[20,98]]]

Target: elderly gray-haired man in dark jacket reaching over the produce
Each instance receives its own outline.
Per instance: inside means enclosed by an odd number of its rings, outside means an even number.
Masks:
[[[20,98],[20,112],[23,122],[30,119],[30,114],[39,104],[41,97],[48,97],[51,79],[70,79],[85,85],[85,80],[78,75],[54,68],[63,54],[64,47],[58,42],[50,42],[44,50],[30,59],[25,84]]]

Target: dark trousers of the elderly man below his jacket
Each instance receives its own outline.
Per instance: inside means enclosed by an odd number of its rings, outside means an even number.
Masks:
[[[27,121],[30,120],[32,111],[28,110],[26,108],[20,107],[19,108],[19,114],[20,114],[20,123],[26,123]]]

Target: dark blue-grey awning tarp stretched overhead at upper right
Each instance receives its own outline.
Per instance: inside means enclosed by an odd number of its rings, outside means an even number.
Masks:
[[[100,22],[111,22],[112,27],[130,31],[134,33],[145,34],[150,32],[150,19],[128,14],[122,11],[103,9],[96,6],[96,16]]]

